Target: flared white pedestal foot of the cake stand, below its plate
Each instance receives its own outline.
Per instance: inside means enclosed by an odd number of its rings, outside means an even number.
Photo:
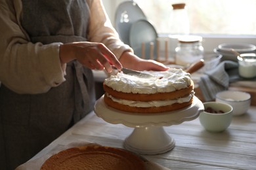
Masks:
[[[163,154],[174,146],[174,139],[161,126],[135,127],[124,143],[127,150],[146,155]]]

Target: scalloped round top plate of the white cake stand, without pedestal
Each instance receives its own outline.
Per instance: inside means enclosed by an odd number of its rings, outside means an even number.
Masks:
[[[104,95],[95,103],[95,113],[98,117],[111,124],[123,124],[129,127],[171,126],[185,121],[194,120],[203,111],[203,103],[194,96],[192,105],[172,112],[156,114],[129,113],[108,107],[104,103]]]

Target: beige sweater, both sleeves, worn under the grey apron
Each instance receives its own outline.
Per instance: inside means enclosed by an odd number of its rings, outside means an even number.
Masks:
[[[132,49],[123,44],[100,0],[86,0],[90,8],[88,41],[104,43],[117,58]],[[61,42],[30,42],[22,28],[22,0],[0,1],[0,82],[16,93],[45,93],[65,81],[60,65]]]

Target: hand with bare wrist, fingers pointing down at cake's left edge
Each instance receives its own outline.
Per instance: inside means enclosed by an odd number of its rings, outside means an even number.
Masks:
[[[71,42],[60,45],[61,63],[68,63],[74,59],[89,69],[106,69],[111,72],[111,65],[117,69],[122,68],[116,56],[104,44],[98,42]]]

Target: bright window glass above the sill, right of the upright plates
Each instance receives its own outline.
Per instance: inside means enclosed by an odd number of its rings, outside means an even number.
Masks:
[[[155,25],[158,33],[168,33],[171,0],[135,0]],[[190,33],[210,35],[256,35],[255,0],[187,0]],[[161,18],[161,20],[160,20]]]

